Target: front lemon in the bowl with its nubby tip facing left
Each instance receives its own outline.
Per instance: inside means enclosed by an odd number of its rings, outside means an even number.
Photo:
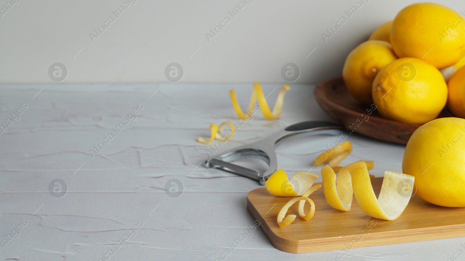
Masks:
[[[447,100],[447,85],[439,70],[416,58],[386,65],[372,86],[373,102],[383,117],[424,124],[438,116]]]

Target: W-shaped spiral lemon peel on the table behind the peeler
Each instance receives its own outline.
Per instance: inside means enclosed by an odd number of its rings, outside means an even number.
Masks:
[[[249,119],[250,114],[254,110],[254,105],[256,101],[258,100],[263,116],[267,120],[274,120],[274,119],[279,118],[279,116],[281,115],[281,112],[283,111],[283,105],[284,105],[284,96],[286,94],[286,91],[289,91],[290,89],[291,87],[289,87],[288,85],[283,85],[281,87],[278,93],[278,97],[276,98],[273,111],[271,111],[270,107],[268,106],[268,103],[266,102],[266,97],[265,97],[265,94],[263,94],[263,90],[261,88],[260,83],[258,82],[253,83],[253,90],[252,90],[252,95],[250,97],[250,103],[249,103],[249,109],[247,110],[247,115],[244,114],[244,112],[240,108],[239,102],[237,101],[236,91],[234,89],[229,90],[229,96],[231,97],[231,102],[233,103],[233,109],[236,112],[236,114],[239,116],[239,118]]]

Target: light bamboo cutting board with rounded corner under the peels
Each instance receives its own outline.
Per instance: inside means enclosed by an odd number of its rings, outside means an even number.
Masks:
[[[383,177],[372,178],[376,196]],[[318,183],[315,183],[318,184]],[[415,189],[414,189],[415,192]],[[412,196],[405,211],[393,221],[372,218],[362,212],[353,198],[352,209],[341,211],[326,203],[323,188],[310,195],[315,202],[315,215],[306,221],[299,216],[296,202],[287,211],[297,215],[292,224],[280,228],[276,218],[290,199],[272,196],[266,188],[250,191],[247,209],[273,246],[289,253],[309,253],[367,246],[426,241],[465,236],[465,208],[446,208]],[[306,203],[307,213],[309,204]],[[345,250],[350,251],[350,250]],[[344,252],[341,252],[344,253]]]

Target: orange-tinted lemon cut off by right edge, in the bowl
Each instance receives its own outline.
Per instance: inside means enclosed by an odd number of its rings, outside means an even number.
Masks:
[[[465,118],[465,66],[452,75],[447,85],[449,109],[458,117]]]

